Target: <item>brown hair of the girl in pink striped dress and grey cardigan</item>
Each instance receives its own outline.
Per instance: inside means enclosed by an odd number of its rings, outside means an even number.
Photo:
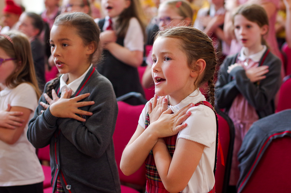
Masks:
[[[268,19],[267,12],[260,5],[246,4],[246,5],[239,6],[237,8],[237,10],[233,13],[233,16],[232,16],[233,24],[234,24],[234,18],[236,15],[242,15],[247,20],[257,23],[258,26],[260,26],[260,27],[262,27],[264,25],[269,26],[269,19]],[[263,36],[262,36],[261,44],[267,45]]]

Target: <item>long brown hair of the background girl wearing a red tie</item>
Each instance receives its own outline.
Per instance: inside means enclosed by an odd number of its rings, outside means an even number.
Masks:
[[[132,17],[135,17],[137,21],[139,21],[139,25],[141,26],[143,37],[145,39],[145,16],[143,14],[143,10],[141,8],[141,3],[139,0],[125,0],[130,1],[130,5],[128,8],[123,10],[123,12],[119,15],[119,18],[116,21],[116,32],[118,37],[125,37],[128,26],[129,20]]]

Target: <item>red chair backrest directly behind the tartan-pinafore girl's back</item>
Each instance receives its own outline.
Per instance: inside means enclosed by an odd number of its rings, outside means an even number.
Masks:
[[[233,122],[225,113],[219,109],[216,109],[216,112],[218,117],[218,132],[220,145],[223,151],[224,166],[221,163],[221,154],[218,150],[217,167],[215,172],[215,192],[226,193],[226,188],[229,183],[235,130]]]

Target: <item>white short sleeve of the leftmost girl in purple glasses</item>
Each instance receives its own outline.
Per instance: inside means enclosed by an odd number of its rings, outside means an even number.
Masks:
[[[35,111],[38,106],[36,91],[28,83],[19,84],[12,90],[10,105]]]

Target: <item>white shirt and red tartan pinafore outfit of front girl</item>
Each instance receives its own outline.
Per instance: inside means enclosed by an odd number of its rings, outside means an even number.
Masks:
[[[216,162],[215,158],[217,153],[216,113],[213,107],[208,102],[206,102],[204,95],[198,89],[196,89],[193,93],[183,99],[179,104],[175,106],[169,105],[169,108],[171,108],[171,110],[175,113],[190,103],[194,103],[195,106],[191,107],[188,110],[191,111],[191,115],[189,118],[187,118],[187,120],[183,122],[187,123],[187,127],[179,131],[177,135],[165,137],[164,140],[167,144],[168,151],[171,156],[173,156],[174,154],[175,146],[179,138],[192,140],[205,145],[203,154],[197,168],[195,169],[195,172],[190,178],[185,189],[181,192],[214,193],[214,165]],[[147,109],[148,103],[145,105],[145,108],[143,109],[139,118],[139,125],[144,129],[146,129],[149,125],[149,116]],[[145,167],[147,178],[146,192],[168,193],[157,172],[152,150],[145,160]]]

